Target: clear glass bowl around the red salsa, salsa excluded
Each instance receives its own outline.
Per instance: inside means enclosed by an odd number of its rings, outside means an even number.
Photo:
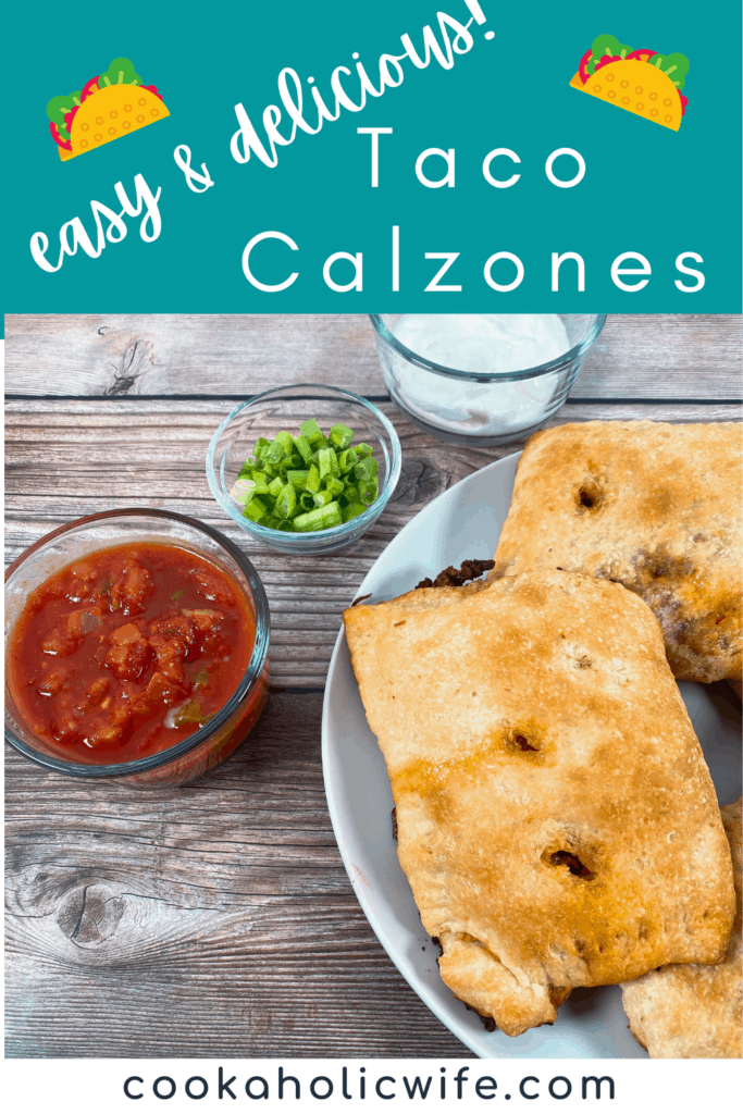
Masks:
[[[116,778],[134,788],[178,785],[232,754],[256,723],[268,692],[268,602],[245,554],[217,530],[166,510],[130,509],[78,518],[47,534],[6,573],[6,661],[12,631],[30,592],[88,554],[131,541],[172,543],[189,549],[218,566],[242,589],[255,619],[255,645],[237,688],[209,723],[157,754],[129,762],[70,762],[63,746],[39,739],[26,725],[12,698],[6,668],[6,740],[38,765],[74,778]]]

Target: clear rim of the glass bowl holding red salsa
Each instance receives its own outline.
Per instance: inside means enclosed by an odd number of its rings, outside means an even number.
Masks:
[[[194,732],[193,735],[188,735],[186,739],[180,740],[180,742],[175,743],[165,751],[159,751],[157,754],[149,754],[146,758],[134,759],[130,762],[114,762],[107,764],[67,762],[62,758],[43,754],[29,746],[21,739],[18,739],[18,736],[6,724],[6,741],[14,750],[26,755],[26,758],[30,759],[32,762],[36,762],[37,765],[41,765],[47,770],[52,770],[55,773],[70,774],[74,778],[126,778],[131,776],[131,774],[147,773],[150,770],[157,770],[159,766],[167,765],[175,759],[183,758],[205,743],[232,719],[232,716],[238,711],[243,700],[252,690],[254,683],[261,676],[265,666],[266,657],[268,655],[268,641],[271,634],[271,613],[268,610],[268,600],[258,574],[247,556],[233,541],[231,541],[229,538],[226,538],[224,534],[221,534],[219,530],[215,530],[212,526],[207,526],[205,522],[199,522],[197,519],[189,518],[186,515],[178,515],[170,510],[149,509],[147,507],[127,507],[121,510],[104,510],[99,511],[97,515],[87,515],[84,518],[76,518],[75,521],[67,522],[65,526],[59,526],[49,534],[45,534],[42,538],[39,538],[39,540],[35,541],[32,546],[25,549],[23,553],[20,554],[12,565],[10,565],[6,570],[6,583],[32,554],[35,554],[42,546],[47,545],[49,541],[52,541],[55,538],[59,538],[62,535],[68,534],[70,530],[76,529],[79,526],[87,526],[90,522],[100,522],[106,519],[135,518],[139,516],[147,516],[148,518],[156,519],[159,518],[170,522],[183,522],[202,534],[206,534],[207,537],[212,538],[213,541],[216,541],[217,545],[229,554],[245,576],[253,596],[253,606],[255,608],[255,644],[253,646],[251,659],[247,664],[245,673],[235,688],[235,692],[232,694],[227,703],[219,709],[214,719],[208,722],[208,724],[199,727],[199,730]],[[111,548],[111,546],[101,545],[100,548],[106,549]]]

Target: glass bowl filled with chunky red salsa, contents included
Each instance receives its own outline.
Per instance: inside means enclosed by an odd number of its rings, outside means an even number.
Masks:
[[[6,574],[6,739],[58,773],[180,784],[226,759],[268,691],[253,565],[163,510],[77,519]]]

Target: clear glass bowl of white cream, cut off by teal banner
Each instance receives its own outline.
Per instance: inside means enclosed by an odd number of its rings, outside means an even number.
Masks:
[[[483,355],[487,358],[488,339],[477,335],[483,332],[485,319],[500,316],[504,322],[514,322],[528,316],[540,317],[542,322],[556,317],[561,321],[567,350],[557,359],[517,371],[480,372],[433,363],[407,348],[394,335],[402,314],[370,313],[369,316],[374,326],[387,389],[405,418],[442,441],[472,446],[522,440],[540,429],[565,403],[606,321],[605,313],[450,315],[450,319],[460,319],[462,329],[468,321],[471,323],[471,335],[462,335],[457,342],[462,351],[470,345],[468,359],[462,358],[462,364],[469,367],[481,362]],[[420,316],[424,320],[423,314]],[[446,323],[444,315],[431,314],[430,317],[429,339],[431,330],[440,322]],[[559,353],[560,349],[557,351]]]

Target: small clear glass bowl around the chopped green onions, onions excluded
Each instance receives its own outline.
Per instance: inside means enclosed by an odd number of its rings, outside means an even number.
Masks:
[[[237,473],[252,455],[256,438],[272,440],[280,430],[299,433],[300,423],[315,418],[323,430],[344,422],[353,430],[354,444],[366,441],[379,462],[379,495],[358,518],[329,530],[284,534],[243,515],[243,508],[229,495]],[[275,387],[256,394],[227,414],[215,432],[206,452],[206,477],[212,495],[225,514],[256,541],[293,556],[338,553],[365,534],[384,510],[400,479],[400,440],[392,422],[377,407],[358,394],[321,383]]]

